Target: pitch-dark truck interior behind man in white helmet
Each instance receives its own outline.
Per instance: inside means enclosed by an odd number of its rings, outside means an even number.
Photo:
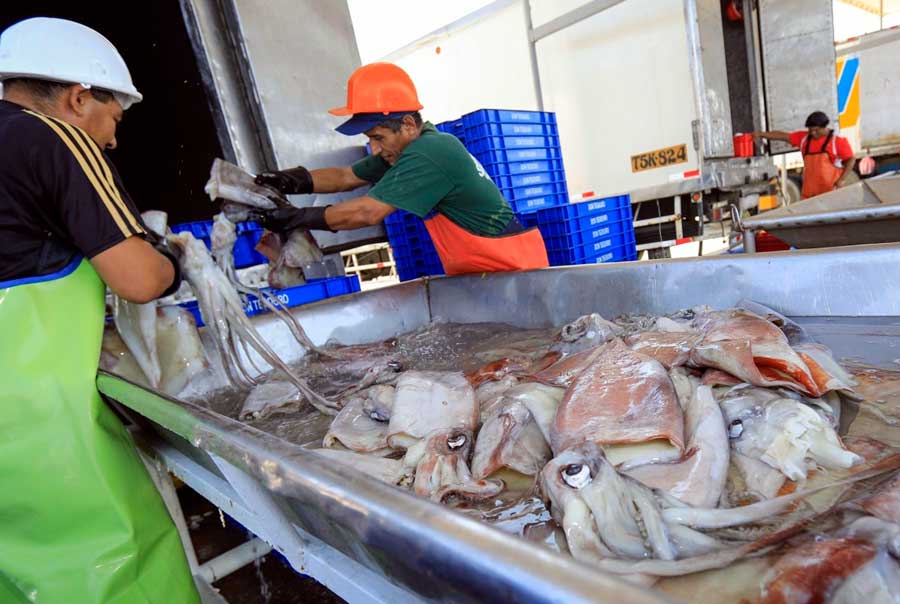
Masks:
[[[215,207],[203,186],[222,152],[179,3],[4,3],[0,31],[38,16],[96,29],[128,64],[144,100],[125,115],[109,155],[138,208],[165,210],[169,224],[209,220]]]

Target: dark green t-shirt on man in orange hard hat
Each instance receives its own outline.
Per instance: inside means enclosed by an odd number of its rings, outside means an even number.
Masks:
[[[478,160],[459,139],[428,122],[393,166],[369,155],[352,168],[357,178],[375,183],[369,197],[421,218],[436,210],[476,235],[498,235],[513,218]]]

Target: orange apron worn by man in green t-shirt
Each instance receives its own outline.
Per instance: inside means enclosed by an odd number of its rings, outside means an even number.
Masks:
[[[550,266],[544,238],[536,228],[497,237],[482,237],[458,226],[443,214],[425,221],[444,272],[496,273]]]

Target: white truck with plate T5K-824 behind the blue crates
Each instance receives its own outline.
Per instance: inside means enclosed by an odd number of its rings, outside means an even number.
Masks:
[[[727,234],[770,157],[733,136],[837,115],[831,0],[500,0],[388,55],[427,117],[554,111],[570,198],[629,193],[638,249]]]

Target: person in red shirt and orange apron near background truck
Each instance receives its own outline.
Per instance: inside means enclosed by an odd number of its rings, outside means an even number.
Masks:
[[[828,128],[828,116],[813,111],[806,118],[807,130],[797,132],[753,132],[755,138],[784,141],[799,147],[803,154],[803,199],[828,193],[852,182],[856,159],[843,136]]]

